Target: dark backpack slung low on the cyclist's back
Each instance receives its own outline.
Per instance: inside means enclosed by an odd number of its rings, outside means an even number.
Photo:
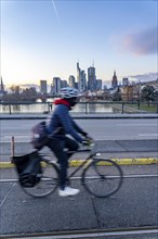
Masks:
[[[45,122],[40,122],[31,129],[30,143],[37,150],[41,150],[48,142],[49,136],[45,130]]]

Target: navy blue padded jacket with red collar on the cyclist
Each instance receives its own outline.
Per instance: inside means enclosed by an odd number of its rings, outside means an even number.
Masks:
[[[70,105],[66,100],[56,100],[55,109],[47,121],[47,131],[52,138],[64,139],[65,135],[70,135],[74,139],[82,142],[79,135],[84,133],[69,114]],[[79,134],[78,134],[79,133]]]

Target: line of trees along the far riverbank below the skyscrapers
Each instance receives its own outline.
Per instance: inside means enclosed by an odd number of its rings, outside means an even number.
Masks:
[[[128,88],[127,88],[128,89]],[[131,88],[129,88],[131,89]],[[48,93],[37,92],[36,88],[30,87],[26,89],[19,88],[19,86],[11,86],[10,91],[5,92],[0,100],[2,102],[36,102],[37,99],[41,99],[42,102],[47,100],[48,97],[51,97]],[[123,91],[118,87],[113,93],[106,89],[103,92],[93,95],[90,97],[84,95],[84,98],[88,99],[98,99],[98,100],[110,100],[110,101],[142,101],[147,102],[158,102],[158,90],[152,85],[146,85],[142,89],[139,89],[136,93],[133,90]]]

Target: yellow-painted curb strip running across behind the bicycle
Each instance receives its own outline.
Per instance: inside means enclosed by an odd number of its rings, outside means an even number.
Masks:
[[[142,158],[142,159],[110,159],[115,161],[119,165],[149,165],[149,164],[158,164],[158,158]],[[83,160],[71,160],[69,161],[69,165],[71,167],[80,166]],[[107,165],[106,163],[101,165]],[[15,165],[11,162],[0,162],[0,169],[4,168],[14,168]]]

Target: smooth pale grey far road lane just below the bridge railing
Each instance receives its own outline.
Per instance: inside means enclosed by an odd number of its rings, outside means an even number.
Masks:
[[[1,142],[29,141],[31,127],[41,120],[5,120],[0,122]],[[158,139],[157,118],[76,120],[95,140]]]

